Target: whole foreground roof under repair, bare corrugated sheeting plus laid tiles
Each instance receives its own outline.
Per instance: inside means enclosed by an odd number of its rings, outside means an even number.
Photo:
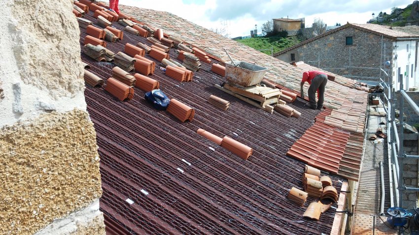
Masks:
[[[316,69],[284,63],[167,12],[121,8],[212,57],[227,61],[222,50],[225,47],[236,59],[268,67],[265,78],[291,92],[297,90],[303,71]],[[101,28],[92,15],[86,14],[86,19]],[[124,29],[116,22],[113,27]],[[87,34],[80,30],[83,45]],[[109,42],[106,48],[117,53],[124,51],[126,43],[138,42],[150,45],[145,38],[124,31],[123,40]],[[97,62],[83,52],[82,47],[81,58],[91,66],[89,71],[107,83],[114,65]],[[357,180],[365,91],[354,89],[357,85],[353,80],[336,76],[337,82],[328,82],[325,95],[327,106],[335,110],[305,109],[305,102],[297,99],[289,106],[300,111],[301,117],[286,118],[277,112],[267,114],[214,88],[225,78],[211,72],[210,64],[202,62],[193,81],[180,83],[158,69],[163,66],[158,60],[145,56],[157,63],[154,74],[148,77],[157,80],[170,98],[193,108],[195,116],[182,123],[168,112],[157,111],[138,88],[134,88],[133,99],[121,102],[103,88],[86,87],[86,103],[101,156],[101,209],[108,229],[118,234],[330,233],[333,210],[322,213],[319,221],[305,219],[302,214],[306,208],[295,206],[286,196],[291,187],[302,188],[303,162],[325,170],[322,175],[332,178],[338,193],[339,180],[345,181],[341,176]],[[169,56],[176,58],[174,49]],[[211,106],[207,102],[211,94],[228,100],[230,108],[223,112]],[[341,113],[334,114],[336,111]],[[232,137],[253,148],[253,154],[245,161],[196,134],[199,128],[219,137]],[[323,134],[313,134],[319,131]],[[306,147],[300,149],[297,140]],[[287,154],[291,149],[297,152],[295,156]],[[308,202],[312,201],[315,199],[309,198]]]

